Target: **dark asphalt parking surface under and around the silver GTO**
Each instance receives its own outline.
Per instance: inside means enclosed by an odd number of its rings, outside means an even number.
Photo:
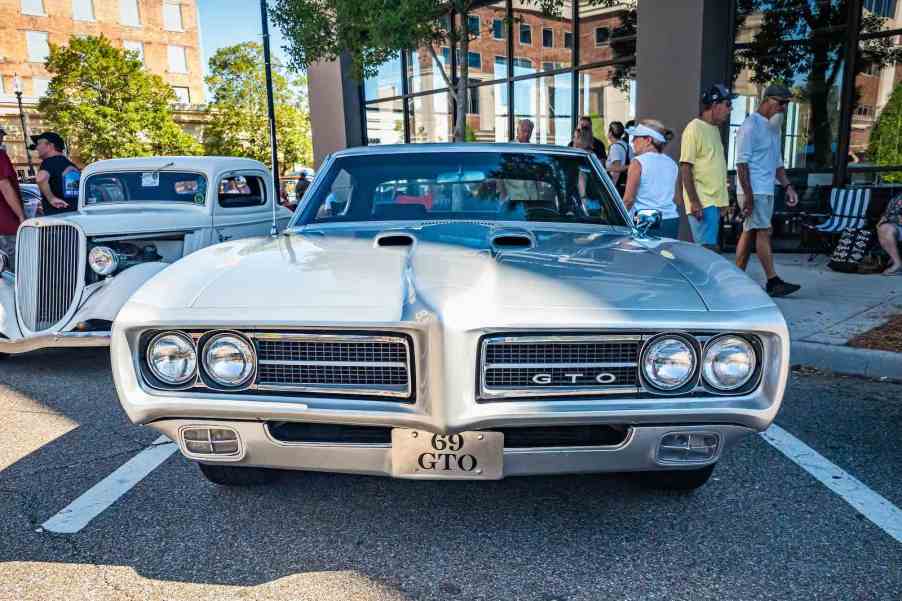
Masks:
[[[794,373],[777,424],[902,506],[902,385]],[[42,528],[157,437],[102,350],[0,362],[0,600],[902,597],[902,543],[760,436],[689,495],[619,475],[227,489],[175,453],[81,531]]]

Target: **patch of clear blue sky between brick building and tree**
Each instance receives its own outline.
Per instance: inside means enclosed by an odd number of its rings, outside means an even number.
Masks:
[[[263,42],[259,0],[197,0],[197,10],[205,74],[207,63],[217,49],[241,42]],[[270,23],[269,33],[273,57],[285,62],[281,32]]]

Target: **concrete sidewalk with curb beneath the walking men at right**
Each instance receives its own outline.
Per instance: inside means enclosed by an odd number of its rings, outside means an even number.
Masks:
[[[730,260],[732,256],[728,256]],[[869,377],[902,379],[902,354],[846,346],[862,332],[902,313],[902,277],[837,273],[829,257],[776,255],[777,274],[802,289],[775,299],[789,323],[792,363]],[[764,284],[764,271],[753,255],[749,276]]]

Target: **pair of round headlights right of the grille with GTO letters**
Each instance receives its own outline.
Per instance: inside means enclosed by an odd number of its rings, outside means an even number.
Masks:
[[[740,391],[755,376],[757,351],[744,336],[723,334],[703,346],[684,334],[661,334],[642,351],[642,378],[649,388],[680,394],[695,387],[699,372],[715,392]]]

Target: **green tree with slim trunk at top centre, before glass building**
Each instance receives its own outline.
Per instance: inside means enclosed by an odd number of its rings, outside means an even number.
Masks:
[[[522,0],[549,16],[558,16],[566,0]],[[627,0],[634,5],[635,0]],[[589,0],[592,6],[622,6],[622,0]],[[292,65],[300,70],[316,62],[335,60],[347,52],[358,79],[374,76],[379,66],[399,52],[428,48],[448,93],[457,106],[454,140],[466,140],[469,64],[458,61],[459,77],[449,74],[434,45],[451,44],[459,56],[469,56],[470,31],[466,16],[483,6],[480,0],[275,0],[272,17],[289,41]],[[449,15],[457,15],[452,27]],[[634,22],[633,22],[634,23]],[[618,73],[621,71],[618,70]]]

